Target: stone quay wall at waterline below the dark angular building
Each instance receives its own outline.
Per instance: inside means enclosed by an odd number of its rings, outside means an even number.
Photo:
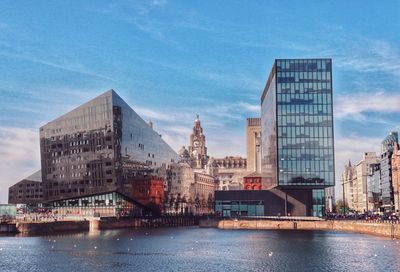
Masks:
[[[118,228],[161,228],[198,225],[195,217],[162,218],[94,218],[83,221],[18,222],[18,232],[24,235],[49,235],[60,232],[99,231]]]

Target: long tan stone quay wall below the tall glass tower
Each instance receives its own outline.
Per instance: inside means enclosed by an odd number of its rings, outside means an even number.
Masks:
[[[200,227],[256,230],[333,230],[400,238],[400,224],[348,220],[273,221],[273,220],[201,220]]]

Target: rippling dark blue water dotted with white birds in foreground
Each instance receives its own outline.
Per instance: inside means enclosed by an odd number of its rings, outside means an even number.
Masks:
[[[0,237],[0,271],[400,271],[400,243],[324,231],[212,228]]]

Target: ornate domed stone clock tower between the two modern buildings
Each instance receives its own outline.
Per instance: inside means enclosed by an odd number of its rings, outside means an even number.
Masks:
[[[193,168],[204,168],[207,164],[206,136],[203,134],[203,128],[200,125],[199,115],[194,121],[193,132],[189,139],[189,154]]]

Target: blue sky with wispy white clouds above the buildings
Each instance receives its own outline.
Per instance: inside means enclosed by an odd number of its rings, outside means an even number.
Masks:
[[[114,89],[178,150],[246,156],[276,58],[333,60],[337,195],[400,130],[400,1],[0,2],[0,203],[40,169],[39,127]]]

